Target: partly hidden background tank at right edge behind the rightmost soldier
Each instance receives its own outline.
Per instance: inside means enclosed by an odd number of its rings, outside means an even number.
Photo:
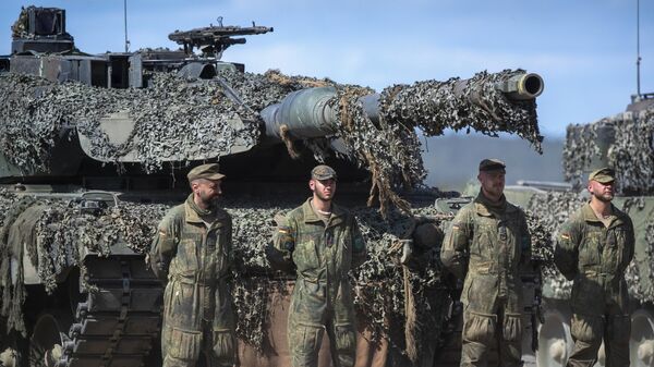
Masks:
[[[562,152],[567,183],[530,183],[510,187],[508,195],[529,208],[544,227],[538,236],[544,257],[552,260],[559,227],[589,199],[588,174],[601,167],[616,169],[614,204],[627,211],[635,231],[634,259],[627,270],[631,297],[631,366],[654,364],[654,176],[652,133],[654,94],[632,97],[625,112],[588,124],[570,124]],[[546,245],[545,243],[549,243]],[[549,264],[544,269],[543,323],[540,328],[538,366],[565,366],[572,352],[571,282]],[[604,346],[595,366],[605,366]]]

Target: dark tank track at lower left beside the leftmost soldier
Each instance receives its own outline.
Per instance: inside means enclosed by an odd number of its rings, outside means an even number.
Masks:
[[[140,255],[86,256],[95,291],[77,304],[57,367],[145,366],[159,343],[162,285]]]

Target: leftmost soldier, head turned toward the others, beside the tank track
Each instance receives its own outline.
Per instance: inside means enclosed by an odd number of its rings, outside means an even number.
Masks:
[[[164,367],[232,366],[237,341],[228,278],[232,264],[231,217],[218,207],[225,178],[218,164],[192,169],[193,193],[159,223],[150,261],[164,294]]]

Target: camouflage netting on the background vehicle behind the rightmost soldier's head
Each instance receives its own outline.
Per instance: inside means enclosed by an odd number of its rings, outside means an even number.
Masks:
[[[606,135],[613,143],[602,146]],[[584,170],[600,162],[606,154],[606,163],[616,169],[619,194],[649,195],[654,193],[654,110],[623,112],[592,124],[569,125],[564,148],[566,180],[584,185]],[[600,137],[600,138],[598,138]]]

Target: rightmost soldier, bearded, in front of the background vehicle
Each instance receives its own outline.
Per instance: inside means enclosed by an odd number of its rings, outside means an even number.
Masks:
[[[554,254],[561,273],[572,280],[571,333],[574,350],[568,366],[591,367],[604,338],[606,365],[629,366],[629,295],[625,270],[633,258],[633,224],[610,201],[615,171],[589,175],[591,201],[564,223]]]

